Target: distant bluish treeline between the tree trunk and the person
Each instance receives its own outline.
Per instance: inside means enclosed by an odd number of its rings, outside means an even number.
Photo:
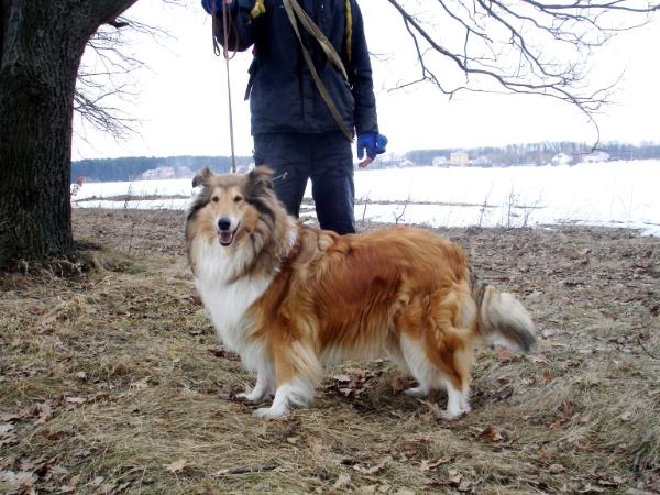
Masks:
[[[252,162],[250,156],[237,156],[237,166],[245,167]],[[158,167],[187,167],[197,172],[204,167],[222,173],[231,169],[230,156],[130,156],[125,158],[80,160],[72,163],[72,182],[77,177],[87,180],[111,182],[133,180],[145,170]]]

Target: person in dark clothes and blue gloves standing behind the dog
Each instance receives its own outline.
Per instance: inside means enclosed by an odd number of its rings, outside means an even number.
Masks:
[[[353,133],[358,157],[366,152],[361,167],[385,152],[387,144],[378,131],[362,13],[356,0],[299,0],[341,58],[344,73],[323,46],[323,36],[310,34],[298,20],[294,29],[292,2],[297,7],[296,0],[201,3],[209,14],[215,9],[219,43],[224,44],[222,10],[228,9],[227,48],[253,47],[245,98],[250,99],[254,162],[274,169],[278,199],[298,218],[310,178],[321,229],[353,233]]]

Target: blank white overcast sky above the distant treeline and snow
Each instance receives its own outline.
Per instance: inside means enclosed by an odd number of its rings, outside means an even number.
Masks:
[[[451,101],[430,85],[388,91],[397,80],[415,79],[414,52],[400,20],[383,0],[362,0],[370,50],[389,54],[373,61],[381,132],[388,152],[415,148],[471,147],[538,141],[587,141],[593,125],[574,108],[530,96],[464,92]],[[229,155],[224,61],[211,45],[210,19],[197,0],[185,7],[140,0],[130,16],[156,25],[170,38],[141,36],[132,46],[148,68],[135,75],[132,101],[120,102],[138,118],[139,134],[116,142],[76,122],[74,160],[119,156]],[[624,33],[595,58],[604,85],[622,70],[617,103],[598,116],[602,141],[660,141],[660,30],[658,23]],[[250,53],[230,62],[235,146],[250,155],[250,111],[243,101]],[[415,74],[410,74],[415,73]]]

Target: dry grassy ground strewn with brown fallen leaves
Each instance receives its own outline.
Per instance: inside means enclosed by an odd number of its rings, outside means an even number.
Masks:
[[[386,361],[329,370],[268,421],[231,399],[254,377],[195,293],[184,213],[74,223],[85,263],[0,282],[0,493],[660,492],[657,238],[440,229],[530,309],[537,351],[480,350],[454,422]]]

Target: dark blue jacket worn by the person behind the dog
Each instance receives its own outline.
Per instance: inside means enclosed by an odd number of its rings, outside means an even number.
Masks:
[[[220,2],[221,0],[218,0]],[[350,0],[352,15],[351,57],[346,46],[346,0],[299,0],[300,7],[326,34],[341,56],[349,82],[328,61],[318,41],[302,26],[300,34],[315,67],[349,129],[378,132],[372,69],[362,13]],[[309,73],[300,45],[282,0],[263,0],[265,12],[251,16],[254,0],[234,0],[229,48],[244,51],[254,45],[250,68],[252,134],[270,132],[321,133],[339,127]],[[216,37],[223,43],[222,14],[217,15]]]

